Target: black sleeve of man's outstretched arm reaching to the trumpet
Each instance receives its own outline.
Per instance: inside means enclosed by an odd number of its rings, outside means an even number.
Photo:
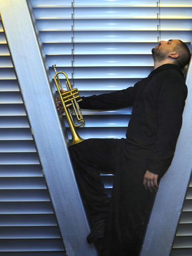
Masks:
[[[135,84],[136,85],[136,84]],[[82,97],[79,103],[81,109],[89,110],[114,110],[132,106],[135,97],[135,86],[128,87],[125,90],[112,93],[104,93],[101,95],[92,95]]]

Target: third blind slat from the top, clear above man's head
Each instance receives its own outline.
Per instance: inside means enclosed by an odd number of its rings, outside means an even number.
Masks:
[[[71,31],[74,25],[74,31],[156,31],[159,20],[154,19],[45,19],[37,20],[39,31]],[[162,30],[191,30],[191,19],[162,19]],[[1,49],[0,49],[1,51]]]

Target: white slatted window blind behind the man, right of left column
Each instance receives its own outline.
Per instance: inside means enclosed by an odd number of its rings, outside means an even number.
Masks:
[[[151,49],[159,40],[181,39],[189,47],[192,39],[191,0],[31,3],[52,77],[51,66],[56,64],[57,71],[66,72],[82,96],[133,86],[153,70]],[[131,108],[83,114],[86,126],[79,130],[81,137],[122,138]],[[110,190],[112,177],[103,179]],[[187,196],[172,256],[192,254],[190,201]]]

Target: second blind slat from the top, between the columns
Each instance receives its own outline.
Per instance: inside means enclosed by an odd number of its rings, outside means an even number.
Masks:
[[[36,19],[71,19],[73,8],[46,8],[45,10],[34,8]],[[157,19],[158,7],[131,7],[131,8],[75,8],[75,19]],[[190,7],[161,8],[161,19],[163,18],[192,18]]]

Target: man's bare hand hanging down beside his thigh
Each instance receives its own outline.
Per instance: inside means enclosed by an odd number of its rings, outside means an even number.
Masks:
[[[153,193],[153,191],[157,192],[157,189],[159,188],[157,184],[157,178],[157,174],[153,174],[149,172],[149,170],[147,170],[143,178],[143,186],[145,187],[145,189],[149,189],[151,193]]]

